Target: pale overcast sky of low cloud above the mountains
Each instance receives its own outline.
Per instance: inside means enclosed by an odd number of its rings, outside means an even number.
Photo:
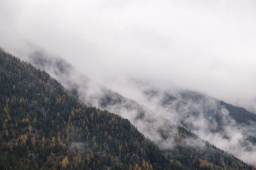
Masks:
[[[20,57],[36,46],[124,94],[134,78],[247,108],[255,28],[253,0],[0,1],[0,46]]]

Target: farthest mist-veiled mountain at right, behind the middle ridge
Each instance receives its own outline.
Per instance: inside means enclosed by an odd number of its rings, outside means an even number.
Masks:
[[[202,139],[254,164],[256,115],[199,92],[147,89],[147,100],[174,114],[180,125]],[[167,116],[166,116],[167,117]]]

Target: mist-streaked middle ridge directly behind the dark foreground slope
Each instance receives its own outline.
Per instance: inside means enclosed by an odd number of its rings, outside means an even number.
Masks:
[[[145,98],[154,101],[152,106],[157,104],[158,110],[152,110],[93,83],[60,58],[47,57],[45,53],[36,52],[29,60],[40,69],[52,73],[84,103],[94,104],[129,118],[143,134],[164,148],[171,159],[179,160],[184,166],[214,169],[252,168],[180,127],[180,118],[170,115],[169,110],[165,108],[176,100],[169,94],[161,95],[162,99],[159,97],[159,91],[144,89],[142,92]],[[64,70],[62,66],[65,66]]]

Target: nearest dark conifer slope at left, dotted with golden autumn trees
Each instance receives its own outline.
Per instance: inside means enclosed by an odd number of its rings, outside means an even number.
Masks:
[[[0,169],[183,169],[124,119],[0,50]]]

